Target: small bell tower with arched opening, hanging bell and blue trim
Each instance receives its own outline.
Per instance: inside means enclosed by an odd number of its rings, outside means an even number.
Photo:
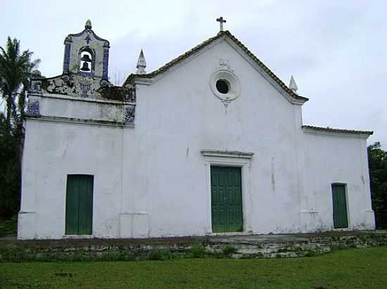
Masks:
[[[109,41],[94,33],[90,20],[82,32],[68,34],[64,44],[63,74],[101,79],[101,86],[108,84]]]

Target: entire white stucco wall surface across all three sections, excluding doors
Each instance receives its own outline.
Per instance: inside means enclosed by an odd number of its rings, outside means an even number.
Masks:
[[[210,89],[220,58],[241,83],[227,109]],[[253,152],[233,164],[243,167],[245,232],[331,229],[331,182],[348,184],[350,227],[374,227],[365,140],[306,134],[301,119],[300,105],[220,41],[137,84],[135,128],[29,120],[22,212],[35,213],[20,214],[18,237],[63,237],[70,173],[94,175],[94,236],[211,233],[209,166],[227,159],[206,159],[203,149]],[[30,223],[36,229],[23,229]]]

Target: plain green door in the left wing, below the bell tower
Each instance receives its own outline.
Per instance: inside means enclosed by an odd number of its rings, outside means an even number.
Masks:
[[[93,175],[68,175],[66,235],[91,235],[93,226]]]

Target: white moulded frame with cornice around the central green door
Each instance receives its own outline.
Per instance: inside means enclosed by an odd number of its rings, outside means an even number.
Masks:
[[[237,235],[237,234],[253,234],[252,213],[253,202],[250,194],[250,168],[251,159],[254,153],[251,152],[235,152],[235,151],[215,151],[210,149],[201,150],[204,158],[205,168],[205,191],[207,192],[207,228],[206,234],[216,235]],[[211,217],[211,166],[227,166],[241,168],[241,189],[242,189],[242,215],[243,215],[243,231],[229,233],[213,233],[212,232],[212,217]]]

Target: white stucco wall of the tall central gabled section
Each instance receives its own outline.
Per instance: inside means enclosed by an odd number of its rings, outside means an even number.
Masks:
[[[241,82],[241,96],[227,113],[209,83],[220,58],[229,60]],[[254,232],[276,230],[280,214],[289,215],[281,227],[296,225],[293,107],[234,48],[219,43],[151,86],[140,86],[137,93],[135,130],[144,140],[147,172],[141,178],[146,178],[149,194],[159,192],[147,208],[154,220],[152,235],[210,230],[204,181],[208,170],[201,149],[255,153],[249,168]],[[160,171],[164,173],[158,177]]]

